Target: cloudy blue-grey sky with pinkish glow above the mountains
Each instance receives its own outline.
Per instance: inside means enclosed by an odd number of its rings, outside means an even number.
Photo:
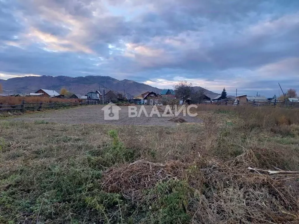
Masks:
[[[299,1],[0,0],[0,79],[41,75],[299,91]]]

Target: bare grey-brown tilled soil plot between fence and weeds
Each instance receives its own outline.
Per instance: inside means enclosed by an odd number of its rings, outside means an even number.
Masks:
[[[140,105],[137,106],[137,111],[140,110]],[[80,106],[70,109],[61,110],[47,110],[47,111],[36,111],[34,113],[26,113],[23,116],[13,118],[13,120],[20,120],[25,122],[34,122],[39,120],[45,120],[48,122],[56,123],[66,123],[66,124],[112,124],[112,125],[161,125],[161,126],[175,126],[178,123],[168,121],[172,117],[158,117],[153,115],[152,117],[147,117],[144,113],[141,113],[140,117],[128,117],[128,107],[120,106],[118,120],[104,120],[104,111],[101,109],[103,105],[89,105]],[[148,115],[150,114],[152,108],[145,106]],[[164,111],[165,107],[161,107]],[[161,111],[161,110],[160,110]],[[173,111],[174,113],[174,111]],[[160,112],[162,115],[162,112]],[[183,116],[182,113],[179,116]],[[202,123],[199,117],[191,117],[186,114],[184,119],[188,123]]]

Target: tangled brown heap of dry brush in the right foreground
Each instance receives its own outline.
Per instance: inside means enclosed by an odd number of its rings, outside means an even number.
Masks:
[[[246,165],[216,160],[192,164],[140,160],[106,170],[102,186],[140,204],[149,198],[144,190],[161,182],[183,181],[191,189],[185,196],[189,201],[186,212],[193,223],[299,223],[299,182],[273,179],[258,173],[259,169],[251,168],[255,171],[251,172]]]

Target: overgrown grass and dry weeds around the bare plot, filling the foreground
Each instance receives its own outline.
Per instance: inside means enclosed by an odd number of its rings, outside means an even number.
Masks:
[[[197,112],[174,126],[2,119],[0,223],[299,223],[299,110]]]

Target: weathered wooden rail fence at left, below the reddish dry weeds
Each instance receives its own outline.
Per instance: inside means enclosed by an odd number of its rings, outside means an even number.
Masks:
[[[67,103],[26,103],[24,100],[22,101],[22,104],[18,105],[0,105],[0,112],[4,111],[21,111],[25,112],[26,110],[37,110],[40,111],[41,109],[55,109],[55,108],[62,108],[62,107],[72,107],[72,106],[78,106],[78,105],[86,105],[86,103],[77,103],[77,102],[67,102]]]

